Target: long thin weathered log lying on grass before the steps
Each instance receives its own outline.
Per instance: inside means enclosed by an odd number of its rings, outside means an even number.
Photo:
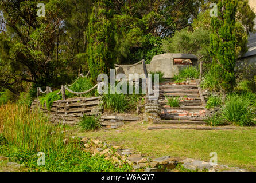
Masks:
[[[157,126],[149,127],[148,130],[157,130],[157,129],[191,129],[191,130],[230,130],[234,129],[231,127],[176,127],[176,126]]]

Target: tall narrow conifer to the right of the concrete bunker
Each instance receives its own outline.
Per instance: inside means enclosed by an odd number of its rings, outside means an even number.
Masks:
[[[218,17],[212,18],[210,54],[213,57],[212,71],[220,82],[223,98],[235,85],[234,69],[238,55],[235,51],[235,14],[238,2],[222,0],[218,3]]]

